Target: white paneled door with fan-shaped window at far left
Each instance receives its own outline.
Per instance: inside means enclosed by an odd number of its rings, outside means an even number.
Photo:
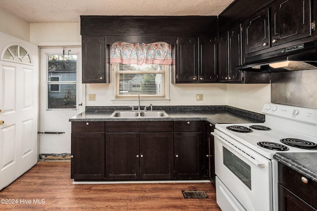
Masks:
[[[0,40],[1,190],[38,161],[38,47],[2,33]]]

